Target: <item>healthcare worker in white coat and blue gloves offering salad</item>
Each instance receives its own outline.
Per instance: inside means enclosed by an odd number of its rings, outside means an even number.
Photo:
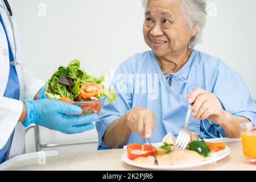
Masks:
[[[78,106],[44,98],[44,82],[20,63],[18,30],[7,0],[0,0],[0,164],[24,151],[25,127],[31,123],[65,134],[92,130],[97,115],[70,117]]]

